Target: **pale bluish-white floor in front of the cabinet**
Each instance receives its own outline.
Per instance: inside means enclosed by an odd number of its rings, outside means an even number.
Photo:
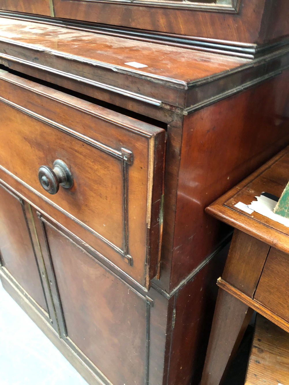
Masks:
[[[87,385],[1,282],[0,385]]]

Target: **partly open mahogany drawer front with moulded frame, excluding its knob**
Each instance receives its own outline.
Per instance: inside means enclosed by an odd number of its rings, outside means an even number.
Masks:
[[[94,234],[97,251],[148,287],[159,253],[165,131],[5,71],[0,102],[0,168]],[[55,177],[55,160],[73,184],[52,195],[38,169]]]

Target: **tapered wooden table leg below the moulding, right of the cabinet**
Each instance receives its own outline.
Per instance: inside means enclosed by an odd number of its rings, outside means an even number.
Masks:
[[[219,385],[234,357],[253,310],[219,289],[201,385]]]

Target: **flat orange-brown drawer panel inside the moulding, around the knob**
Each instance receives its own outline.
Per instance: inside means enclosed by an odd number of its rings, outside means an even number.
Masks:
[[[60,187],[51,199],[122,249],[121,163],[9,105],[1,106],[1,115],[3,130],[8,133],[3,136],[2,143],[9,149],[1,165],[50,198],[40,186],[38,168],[42,165],[52,167],[58,158],[64,160],[74,177],[74,186],[69,190]],[[104,200],[112,206],[104,205]],[[96,222],[95,217],[101,218],[103,223]]]

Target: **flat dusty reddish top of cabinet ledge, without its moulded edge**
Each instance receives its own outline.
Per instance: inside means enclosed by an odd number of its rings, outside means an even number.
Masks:
[[[116,72],[186,84],[251,62],[249,59],[170,47],[99,33],[0,17],[0,41],[89,61]],[[125,63],[147,67],[135,68]]]

